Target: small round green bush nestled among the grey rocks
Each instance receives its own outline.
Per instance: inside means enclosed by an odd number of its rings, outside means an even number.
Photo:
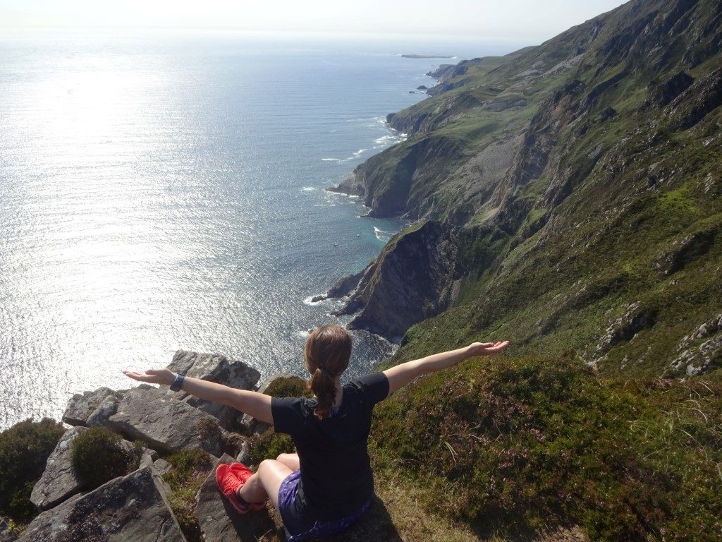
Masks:
[[[138,447],[123,448],[121,437],[105,427],[91,427],[73,439],[71,461],[78,478],[87,489],[126,476],[138,467]]]

